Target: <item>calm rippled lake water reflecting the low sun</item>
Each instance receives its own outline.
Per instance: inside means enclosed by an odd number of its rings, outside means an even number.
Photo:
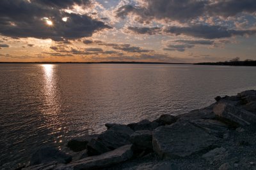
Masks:
[[[180,114],[218,95],[256,89],[256,67],[157,64],[0,64],[0,167],[42,145]]]

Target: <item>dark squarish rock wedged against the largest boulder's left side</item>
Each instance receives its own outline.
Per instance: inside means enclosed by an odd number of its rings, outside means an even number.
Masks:
[[[136,131],[131,135],[130,141],[135,148],[152,149],[152,131]]]

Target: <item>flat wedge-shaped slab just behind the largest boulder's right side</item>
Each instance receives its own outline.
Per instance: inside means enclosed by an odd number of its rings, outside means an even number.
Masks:
[[[223,134],[228,132],[228,125],[218,120],[198,118],[195,120],[191,120],[190,122],[196,127],[200,127],[209,134],[212,134],[218,138],[223,138]]]

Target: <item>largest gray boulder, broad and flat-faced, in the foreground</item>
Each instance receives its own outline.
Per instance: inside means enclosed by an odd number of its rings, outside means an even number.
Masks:
[[[208,149],[219,139],[189,122],[161,126],[152,134],[153,150],[162,158],[186,157]]]

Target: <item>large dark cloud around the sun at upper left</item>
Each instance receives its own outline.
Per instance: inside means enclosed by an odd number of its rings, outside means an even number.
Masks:
[[[60,3],[61,2],[61,3]],[[80,3],[79,3],[80,2]],[[0,34],[12,38],[51,38],[54,41],[90,37],[94,32],[111,29],[87,15],[65,13],[63,7],[82,1],[0,1]],[[87,1],[83,1],[87,2]],[[46,5],[47,4],[47,5]],[[47,25],[44,17],[53,25]],[[68,17],[67,22],[62,20]]]

